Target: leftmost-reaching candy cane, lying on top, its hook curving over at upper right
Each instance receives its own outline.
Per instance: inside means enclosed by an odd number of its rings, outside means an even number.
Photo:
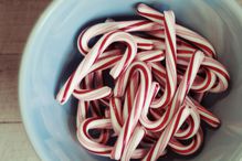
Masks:
[[[59,92],[56,99],[60,104],[66,103],[77,84],[90,73],[91,66],[96,60],[98,60],[107,46],[114,42],[125,42],[127,49],[120,61],[118,61],[118,63],[115,64],[115,66],[111,69],[111,75],[116,78],[123,71],[127,68],[137,53],[137,44],[135,43],[133,36],[120,31],[105,34],[84,57],[76,71],[69,77],[64,86]]]

